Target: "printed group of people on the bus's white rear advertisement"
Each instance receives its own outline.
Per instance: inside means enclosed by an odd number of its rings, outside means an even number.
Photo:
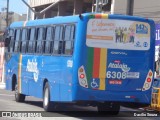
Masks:
[[[127,27],[117,27],[115,29],[116,43],[134,43],[135,30]]]

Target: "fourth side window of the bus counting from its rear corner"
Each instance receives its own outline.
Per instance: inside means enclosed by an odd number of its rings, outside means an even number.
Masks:
[[[45,28],[38,28],[36,53],[42,53],[44,49]]]

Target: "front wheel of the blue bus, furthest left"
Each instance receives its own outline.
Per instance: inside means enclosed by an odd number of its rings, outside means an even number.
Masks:
[[[24,102],[24,100],[25,100],[25,95],[20,94],[18,92],[18,85],[17,84],[15,85],[15,100],[16,100],[16,102]]]

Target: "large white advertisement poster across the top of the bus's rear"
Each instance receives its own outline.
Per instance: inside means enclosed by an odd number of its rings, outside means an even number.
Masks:
[[[86,37],[86,44],[90,47],[150,49],[150,25],[145,22],[90,19]]]

